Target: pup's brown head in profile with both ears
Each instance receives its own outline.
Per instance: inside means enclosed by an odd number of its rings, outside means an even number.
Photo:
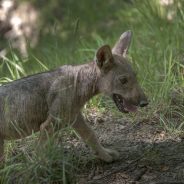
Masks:
[[[132,34],[123,33],[113,49],[104,45],[98,49],[95,61],[100,69],[99,90],[112,97],[121,112],[133,112],[148,105],[126,55]]]

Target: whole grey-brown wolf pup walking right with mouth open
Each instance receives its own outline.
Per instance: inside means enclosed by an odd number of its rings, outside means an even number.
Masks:
[[[105,162],[119,154],[104,148],[86,124],[81,109],[93,96],[104,93],[124,113],[148,104],[136,75],[126,59],[130,31],[123,33],[115,46],[100,47],[87,64],[65,65],[56,70],[28,76],[0,87],[0,157],[4,140],[19,139],[40,131],[52,135],[57,123],[70,124]]]

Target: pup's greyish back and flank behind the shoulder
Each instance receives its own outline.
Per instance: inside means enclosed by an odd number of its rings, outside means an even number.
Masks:
[[[49,88],[60,73],[57,69],[0,87],[0,136],[19,138],[39,130],[48,114]]]

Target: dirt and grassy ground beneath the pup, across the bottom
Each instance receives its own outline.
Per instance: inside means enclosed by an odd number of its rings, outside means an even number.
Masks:
[[[38,136],[7,144],[0,183],[184,184],[184,134],[177,133],[183,121],[173,110],[170,116],[160,109],[150,114],[148,108],[132,116],[113,108],[102,112],[96,107],[84,109],[101,144],[119,151],[120,158],[113,163],[96,158],[66,127],[45,151],[35,149]],[[175,127],[173,133],[166,128],[167,118]]]

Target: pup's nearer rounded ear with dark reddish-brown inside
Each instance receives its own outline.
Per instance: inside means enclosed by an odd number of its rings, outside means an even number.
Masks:
[[[113,56],[109,45],[100,47],[95,55],[97,66],[107,72],[113,65]]]

